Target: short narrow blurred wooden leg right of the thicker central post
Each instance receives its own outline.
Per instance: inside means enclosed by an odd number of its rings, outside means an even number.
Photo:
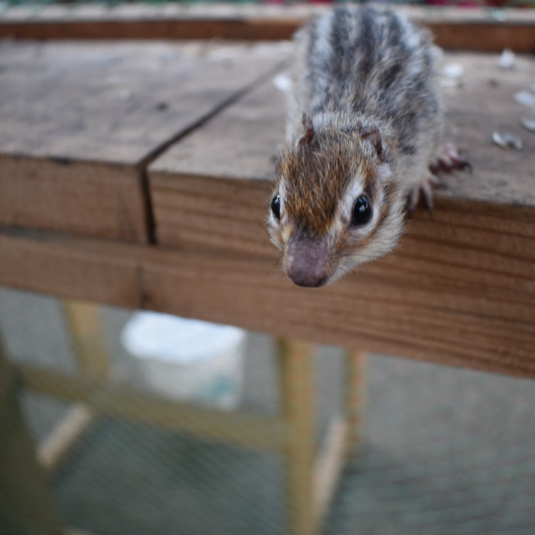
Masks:
[[[347,452],[356,454],[361,441],[364,414],[364,388],[367,353],[347,351],[346,354],[345,410],[349,426]]]

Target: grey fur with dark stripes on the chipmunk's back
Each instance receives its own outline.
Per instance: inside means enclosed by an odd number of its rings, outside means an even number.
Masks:
[[[303,112],[315,123],[373,123],[402,188],[421,180],[442,133],[429,32],[391,11],[340,6],[295,43],[287,137],[299,136]]]

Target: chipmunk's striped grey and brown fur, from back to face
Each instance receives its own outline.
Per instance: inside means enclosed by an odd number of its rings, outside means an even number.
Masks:
[[[405,198],[428,173],[442,134],[434,48],[427,31],[391,11],[340,6],[297,32],[292,78],[274,193],[281,218],[270,215],[268,227],[283,263],[292,243],[321,243],[332,282],[392,250]],[[373,217],[355,227],[362,193]]]

